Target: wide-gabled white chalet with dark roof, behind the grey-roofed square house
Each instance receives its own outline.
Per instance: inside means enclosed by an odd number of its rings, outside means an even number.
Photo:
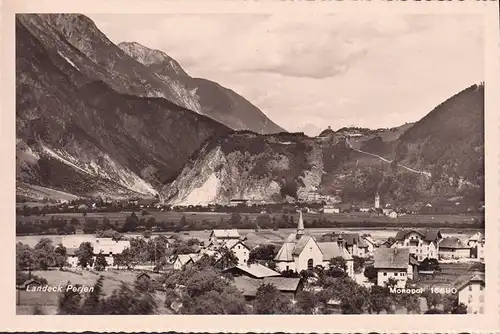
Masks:
[[[437,259],[439,243],[443,239],[439,230],[401,230],[396,234],[392,248],[409,248],[410,254],[422,261],[425,258]]]

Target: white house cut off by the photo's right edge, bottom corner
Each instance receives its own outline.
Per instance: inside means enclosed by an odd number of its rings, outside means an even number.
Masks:
[[[458,302],[467,306],[467,313],[484,314],[485,276],[475,273],[465,282],[456,285]]]

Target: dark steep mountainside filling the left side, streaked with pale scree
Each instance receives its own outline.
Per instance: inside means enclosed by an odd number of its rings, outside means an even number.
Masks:
[[[79,195],[156,194],[204,140],[229,131],[166,99],[120,92],[127,75],[104,71],[95,55],[76,49],[65,39],[76,34],[71,29],[39,29],[34,17],[16,20],[19,184]],[[80,38],[83,27],[75,25]]]

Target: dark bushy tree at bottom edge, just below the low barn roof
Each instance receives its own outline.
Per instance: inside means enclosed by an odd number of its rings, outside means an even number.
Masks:
[[[274,285],[262,284],[257,289],[253,310],[256,314],[288,314],[291,302]]]

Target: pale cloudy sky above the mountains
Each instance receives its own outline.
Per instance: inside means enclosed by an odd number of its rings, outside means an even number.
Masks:
[[[481,16],[90,14],[111,41],[162,50],[288,131],[414,122],[484,80]]]

